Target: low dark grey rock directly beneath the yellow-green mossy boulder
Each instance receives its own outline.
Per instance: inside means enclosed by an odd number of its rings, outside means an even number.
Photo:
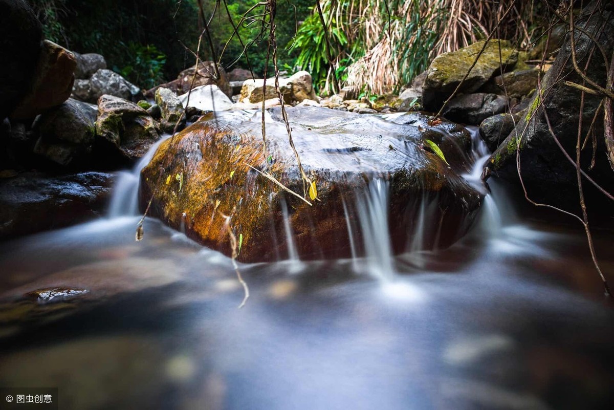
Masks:
[[[453,98],[442,114],[448,120],[457,123],[480,125],[486,118],[504,112],[506,103],[507,99],[502,95],[484,93],[461,95]]]

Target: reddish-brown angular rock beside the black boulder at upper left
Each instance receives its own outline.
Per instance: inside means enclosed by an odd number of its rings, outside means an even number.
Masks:
[[[43,41],[29,90],[10,117],[17,120],[34,118],[66,101],[71,96],[76,65],[74,55],[66,48],[49,40]]]

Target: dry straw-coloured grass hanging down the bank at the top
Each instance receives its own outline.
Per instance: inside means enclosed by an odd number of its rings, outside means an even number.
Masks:
[[[396,91],[426,69],[440,53],[498,36],[529,48],[534,0],[351,0],[332,5],[350,43],[362,42],[364,56],[348,69],[346,85],[376,94]]]

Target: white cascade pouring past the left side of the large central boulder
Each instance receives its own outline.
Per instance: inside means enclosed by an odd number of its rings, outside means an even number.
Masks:
[[[161,137],[153,144],[149,151],[139,160],[132,171],[122,171],[119,173],[117,184],[111,196],[109,205],[109,218],[122,216],[133,216],[139,213],[139,178],[141,170],[152,160],[153,154],[160,144],[168,139],[170,135]]]

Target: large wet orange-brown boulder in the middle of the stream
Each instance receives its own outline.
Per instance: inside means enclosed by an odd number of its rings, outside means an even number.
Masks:
[[[373,179],[386,180],[389,187],[388,225],[397,253],[410,245],[421,208],[429,210],[424,247],[435,241],[448,246],[475,219],[480,193],[422,147],[423,134],[433,130],[316,107],[296,107],[288,114],[293,141],[306,174],[316,182],[319,200],[311,201],[306,193],[279,109],[271,109],[266,112],[266,153],[259,112],[209,114],[163,142],[141,173],[142,209],[153,196],[149,215],[227,255],[232,230],[243,237],[241,261],[287,256],[286,206],[301,258],[350,256],[348,226],[356,251],[363,253],[357,203],[368,195]],[[250,166],[270,172],[312,205]]]

